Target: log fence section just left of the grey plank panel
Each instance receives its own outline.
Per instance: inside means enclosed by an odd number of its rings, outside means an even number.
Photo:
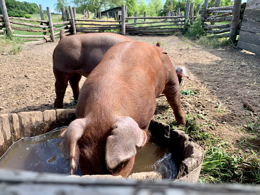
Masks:
[[[241,22],[245,10],[246,3],[239,5],[239,9],[235,9],[234,6],[225,6],[225,7],[219,7],[221,0],[217,0],[215,7],[213,8],[207,8],[209,0],[205,0],[203,12],[202,12],[202,23],[204,23],[203,27],[205,29],[205,32],[208,34],[213,34],[213,37],[222,38],[222,37],[230,37],[230,31],[232,29],[232,23],[234,24],[234,27],[237,29],[240,29]],[[235,0],[235,2],[238,2]],[[240,0],[241,2],[241,0]],[[218,15],[220,13],[220,15]],[[210,15],[210,16],[208,16]],[[238,18],[233,19],[238,15]],[[207,22],[207,23],[205,23]],[[209,24],[210,22],[210,24]],[[215,24],[218,22],[229,22],[226,24]],[[233,27],[233,28],[234,28]],[[228,32],[228,33],[226,33]],[[232,35],[233,37],[237,36]]]

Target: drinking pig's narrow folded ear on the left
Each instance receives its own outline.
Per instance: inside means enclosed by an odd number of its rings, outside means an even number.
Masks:
[[[83,135],[85,124],[85,119],[76,119],[72,121],[68,128],[60,135],[60,137],[63,138],[62,142],[60,143],[60,149],[64,157],[69,160],[71,175],[73,175],[78,167],[78,141]]]

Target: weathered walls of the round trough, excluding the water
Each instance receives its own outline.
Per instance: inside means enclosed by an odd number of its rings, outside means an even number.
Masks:
[[[0,156],[21,138],[30,138],[50,132],[60,126],[67,126],[75,119],[75,109],[46,110],[44,112],[20,112],[0,115]],[[188,138],[183,131],[174,131],[169,125],[152,120],[149,126],[151,140],[167,146],[177,167],[176,181],[197,182],[203,153],[201,147]],[[17,143],[13,144],[17,145]],[[15,146],[12,146],[15,147]],[[6,153],[8,155],[8,152]],[[3,165],[3,164],[2,164]],[[0,163],[1,166],[1,163]],[[156,172],[133,173],[128,179],[161,180]],[[83,176],[87,177],[87,176]],[[90,176],[89,176],[90,177]],[[109,176],[91,176],[108,178]],[[164,176],[163,176],[164,178]]]

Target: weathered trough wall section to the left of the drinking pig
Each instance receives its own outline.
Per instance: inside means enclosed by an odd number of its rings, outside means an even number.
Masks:
[[[0,157],[13,142],[25,137],[39,136],[75,119],[75,109],[19,112],[0,115]]]

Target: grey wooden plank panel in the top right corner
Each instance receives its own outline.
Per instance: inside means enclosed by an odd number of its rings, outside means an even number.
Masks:
[[[247,0],[238,47],[260,55],[260,0]]]

